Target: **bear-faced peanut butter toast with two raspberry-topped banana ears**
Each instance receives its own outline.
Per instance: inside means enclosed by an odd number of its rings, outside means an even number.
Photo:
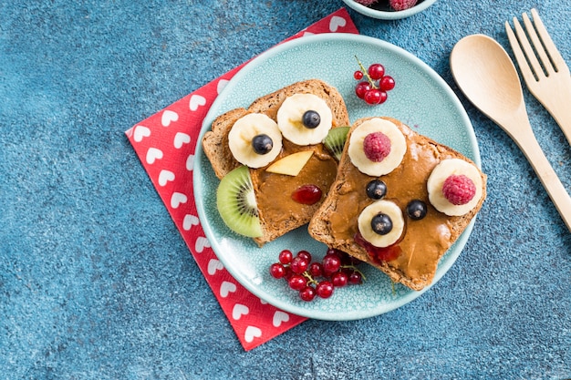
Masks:
[[[471,159],[397,119],[361,118],[308,231],[420,291],[485,197],[486,176]]]

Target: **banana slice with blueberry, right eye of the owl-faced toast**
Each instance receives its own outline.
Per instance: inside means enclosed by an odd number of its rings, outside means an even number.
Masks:
[[[313,145],[327,137],[333,114],[322,98],[313,94],[295,94],[277,110],[277,127],[285,139],[296,145]]]

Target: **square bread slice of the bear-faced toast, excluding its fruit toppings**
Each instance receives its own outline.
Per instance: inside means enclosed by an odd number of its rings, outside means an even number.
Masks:
[[[367,119],[369,118],[361,118],[353,124],[347,141],[353,130]],[[327,199],[310,221],[308,231],[317,241],[348,252],[360,261],[368,262],[385,272],[393,282],[400,282],[413,290],[421,290],[432,282],[441,256],[482,208],[486,196],[486,176],[479,170],[483,180],[483,196],[472,211],[454,217],[442,214],[434,209],[428,200],[425,184],[431,169],[442,159],[463,159],[474,164],[473,161],[454,149],[421,136],[399,120],[387,119],[400,128],[407,141],[408,149],[400,166],[388,175],[369,177],[353,166],[348,157],[346,143],[338,164],[337,178]],[[405,217],[403,237],[390,248],[400,250],[400,255],[395,260],[374,259],[363,244],[355,240],[358,236],[358,214],[374,201],[367,197],[364,184],[376,178],[385,181],[388,188],[385,199],[397,203]],[[412,221],[406,216],[406,206],[413,199],[423,200],[428,205],[427,217],[421,221]]]

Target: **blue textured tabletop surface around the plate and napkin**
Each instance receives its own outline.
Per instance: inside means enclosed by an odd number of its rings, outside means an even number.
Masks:
[[[409,50],[457,91],[488,200],[451,271],[414,302],[239,344],[123,132],[340,6],[0,3],[0,378],[571,377],[571,236],[448,65],[462,36],[507,47],[504,21],[533,6],[571,63],[571,8],[555,0],[439,0],[400,21],[350,11],[361,34]],[[524,95],[569,189],[571,148]]]

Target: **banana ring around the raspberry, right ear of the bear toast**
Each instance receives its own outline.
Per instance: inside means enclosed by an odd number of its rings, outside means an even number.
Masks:
[[[442,193],[444,181],[452,175],[464,175],[472,180],[476,192],[472,200],[465,204],[455,205]],[[462,216],[470,212],[480,201],[483,194],[482,177],[476,167],[463,159],[444,159],[434,169],[426,182],[429,200],[432,206],[448,216]]]

